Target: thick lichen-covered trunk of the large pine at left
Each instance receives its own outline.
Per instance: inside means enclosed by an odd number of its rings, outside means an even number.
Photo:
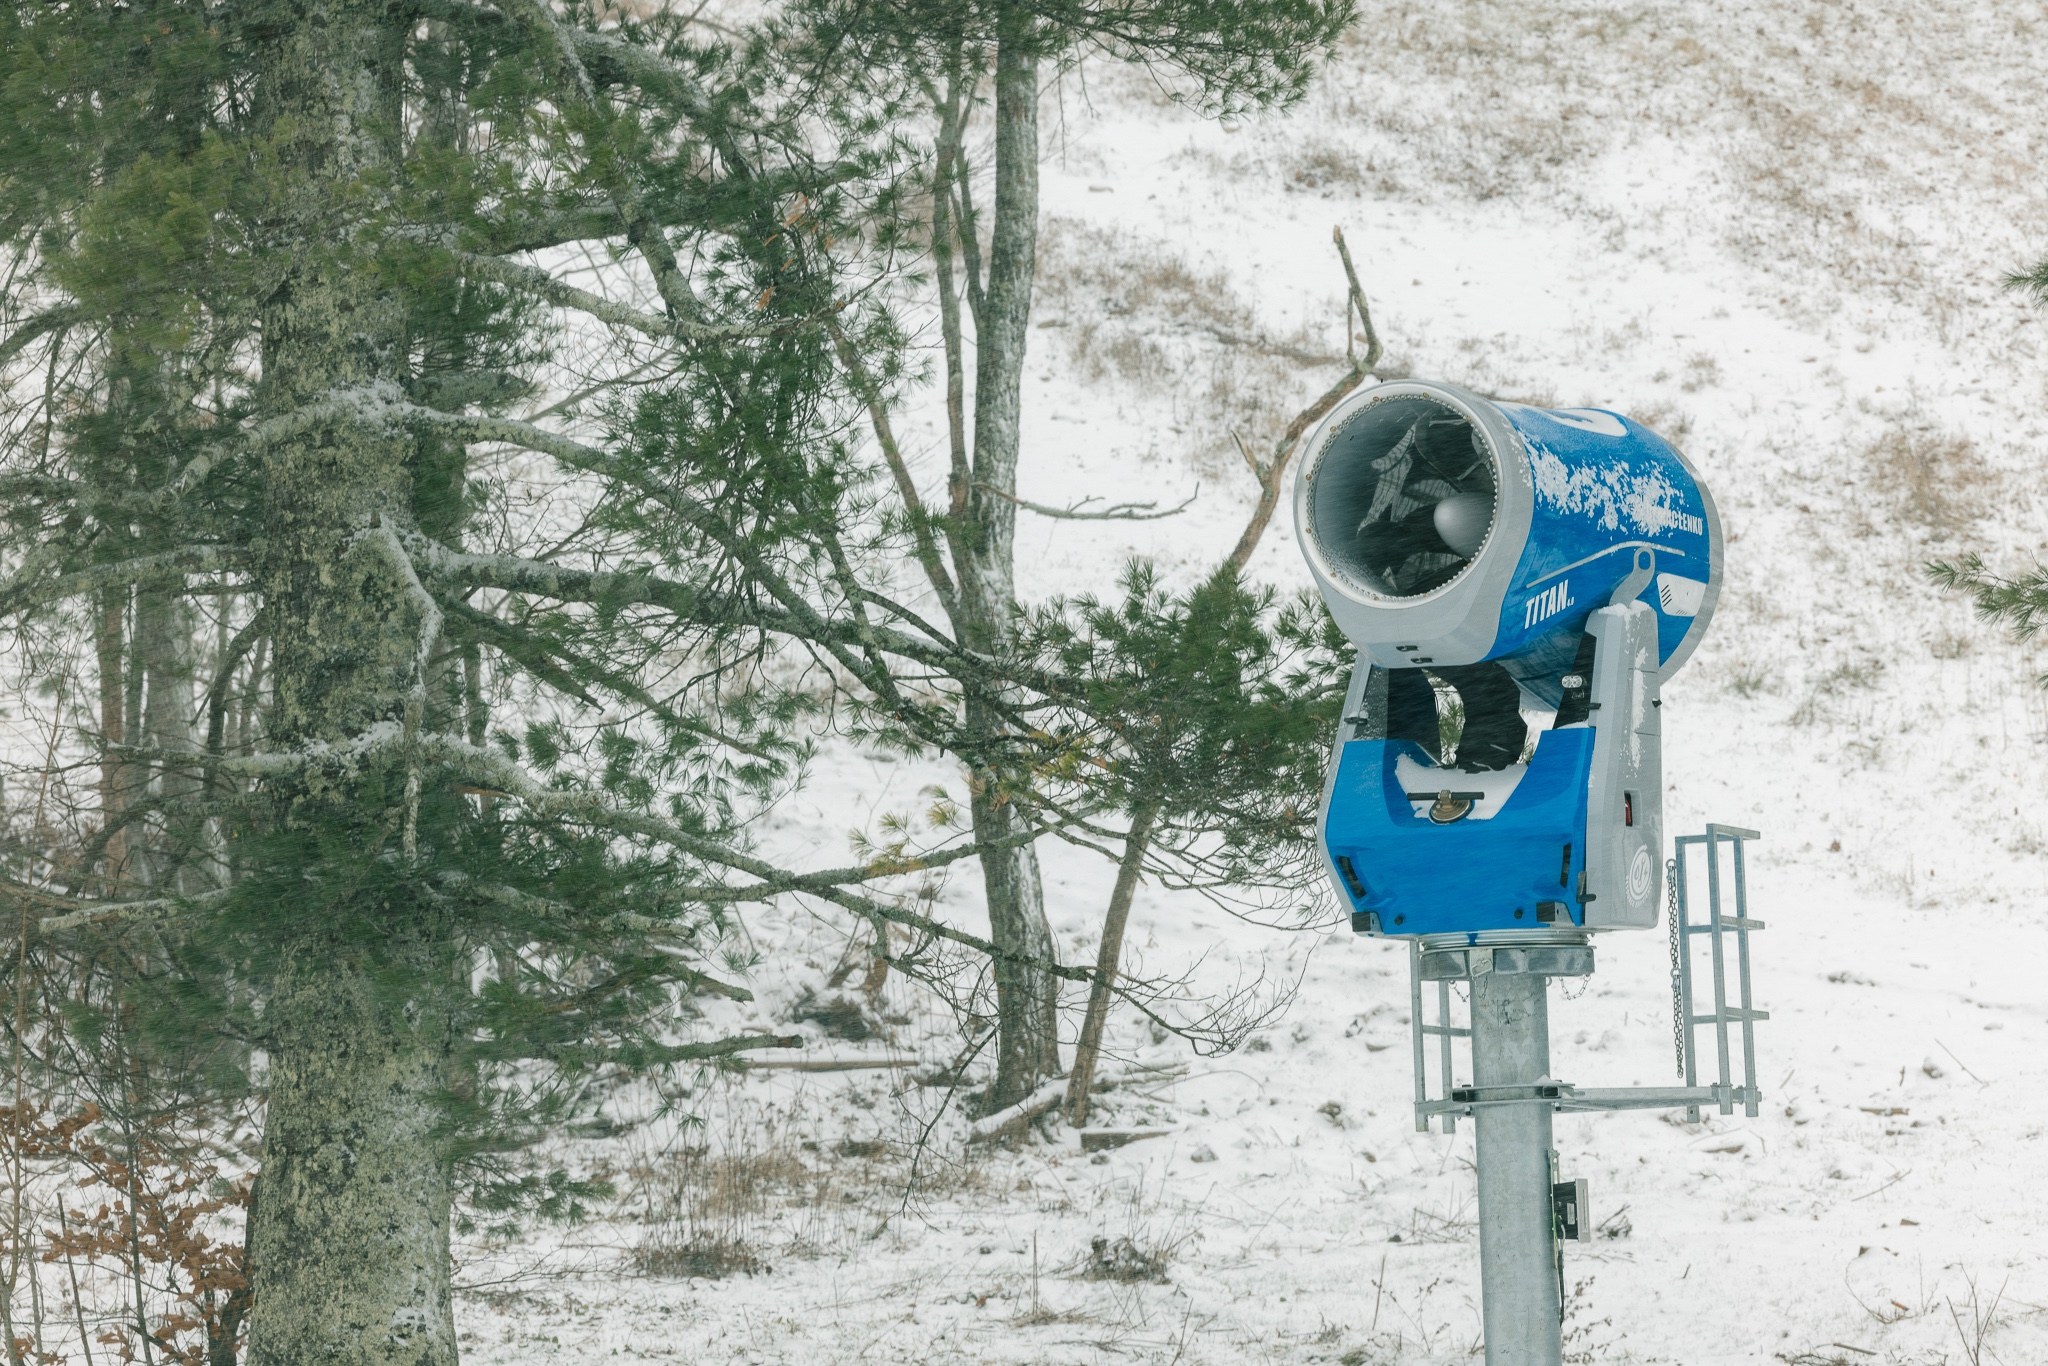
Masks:
[[[268,6],[256,113],[274,158],[287,272],[262,311],[258,401],[287,414],[395,385],[406,307],[350,246],[397,178],[408,18],[381,0]],[[412,442],[334,422],[262,455],[270,614],[266,733],[285,754],[346,752],[373,727],[418,725],[420,614],[379,528],[412,522]],[[430,643],[428,643],[430,645]],[[453,1366],[451,1167],[440,1130],[455,956],[438,920],[365,850],[375,895],[350,891],[348,831],[389,840],[385,756],[266,780],[266,848],[303,887],[270,920],[279,979],[264,1006],[262,1200],[250,1229],[250,1366]],[[381,780],[379,780],[381,778]],[[383,834],[377,834],[383,831]],[[291,850],[305,850],[303,854]],[[317,852],[315,852],[317,850]],[[367,870],[367,868],[365,868]]]

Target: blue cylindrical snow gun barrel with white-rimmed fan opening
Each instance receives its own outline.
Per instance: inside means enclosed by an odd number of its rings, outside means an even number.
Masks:
[[[1546,707],[1593,610],[1647,602],[1669,678],[1720,594],[1714,500],[1661,436],[1432,381],[1362,389],[1309,434],[1294,526],[1370,664],[1497,659]]]

